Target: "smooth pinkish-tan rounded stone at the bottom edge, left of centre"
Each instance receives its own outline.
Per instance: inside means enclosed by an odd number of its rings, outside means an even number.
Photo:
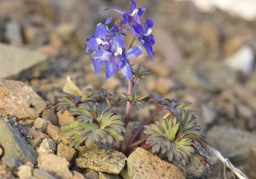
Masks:
[[[54,154],[40,155],[37,159],[37,163],[40,169],[51,173],[56,176],[56,178],[70,179],[73,177],[68,169],[69,162],[65,157]]]

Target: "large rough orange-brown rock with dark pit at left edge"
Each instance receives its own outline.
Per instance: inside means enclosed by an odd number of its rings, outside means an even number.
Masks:
[[[46,107],[44,100],[20,81],[0,80],[0,98],[0,114],[13,115],[19,120],[35,120]]]

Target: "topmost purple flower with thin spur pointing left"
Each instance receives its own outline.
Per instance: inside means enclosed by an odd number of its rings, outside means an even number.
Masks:
[[[141,15],[146,9],[137,8],[136,3],[133,0],[131,0],[130,3],[130,11],[128,12],[117,8],[107,8],[106,10],[113,10],[120,13],[123,17],[122,24],[128,24],[132,34],[137,37],[144,32],[143,27],[141,26]]]

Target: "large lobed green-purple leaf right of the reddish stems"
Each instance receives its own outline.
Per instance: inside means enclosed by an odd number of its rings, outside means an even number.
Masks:
[[[175,117],[145,126],[145,134],[149,135],[146,143],[152,146],[152,152],[166,153],[168,160],[186,167],[198,169],[201,164],[209,164],[200,153],[207,150],[207,143],[191,111],[175,111],[174,114]]]

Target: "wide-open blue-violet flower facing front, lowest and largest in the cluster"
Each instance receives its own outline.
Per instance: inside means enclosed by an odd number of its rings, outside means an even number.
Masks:
[[[100,49],[92,53],[95,73],[99,72],[100,66],[104,61],[106,79],[115,75],[117,70],[119,70],[125,79],[132,81],[132,70],[131,66],[127,63],[127,59],[140,56],[142,53],[141,47],[136,45],[125,51],[124,38],[120,34],[113,36],[109,43],[111,44],[110,52]]]

